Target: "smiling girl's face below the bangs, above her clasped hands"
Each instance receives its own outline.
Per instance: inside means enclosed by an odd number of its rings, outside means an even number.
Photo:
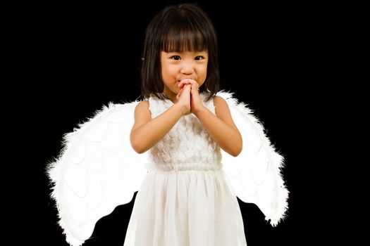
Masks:
[[[207,51],[171,53],[161,51],[161,76],[166,96],[175,98],[181,89],[178,83],[183,79],[194,79],[199,87],[202,86],[206,80],[207,63]]]

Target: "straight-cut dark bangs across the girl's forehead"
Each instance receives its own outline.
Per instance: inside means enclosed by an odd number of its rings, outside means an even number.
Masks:
[[[202,28],[191,22],[172,22],[171,26],[164,28],[161,36],[161,51],[185,52],[185,51],[208,51],[211,46],[211,37],[202,32]]]

